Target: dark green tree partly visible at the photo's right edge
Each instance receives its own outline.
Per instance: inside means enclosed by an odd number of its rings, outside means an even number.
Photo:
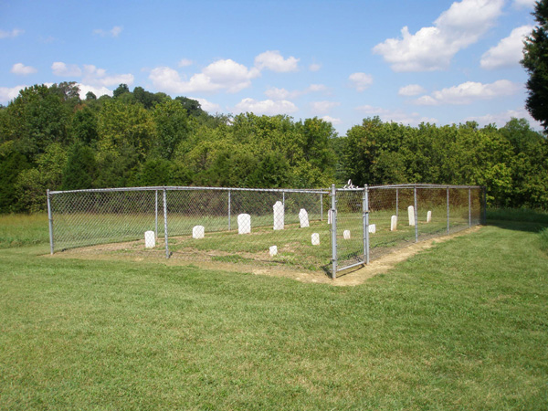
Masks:
[[[537,26],[525,40],[522,66],[527,70],[527,110],[548,130],[548,0],[539,0],[532,13]]]

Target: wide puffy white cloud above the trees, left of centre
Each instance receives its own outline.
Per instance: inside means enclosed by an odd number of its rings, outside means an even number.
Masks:
[[[258,68],[247,68],[237,62],[217,60],[205,67],[201,73],[197,73],[189,80],[181,79],[179,73],[173,68],[153,68],[149,79],[154,86],[166,92],[189,93],[199,91],[227,90],[237,92],[251,86],[251,79],[260,75]]]

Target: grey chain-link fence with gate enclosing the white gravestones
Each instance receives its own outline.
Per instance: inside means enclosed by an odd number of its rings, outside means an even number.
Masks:
[[[337,272],[478,225],[482,187],[140,187],[47,193],[51,253],[143,254]],[[143,242],[144,239],[144,242]]]

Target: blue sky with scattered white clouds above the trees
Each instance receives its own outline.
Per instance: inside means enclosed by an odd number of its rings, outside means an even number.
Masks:
[[[0,0],[0,104],[34,84],[119,84],[211,114],[319,117],[345,135],[526,118],[534,0]]]

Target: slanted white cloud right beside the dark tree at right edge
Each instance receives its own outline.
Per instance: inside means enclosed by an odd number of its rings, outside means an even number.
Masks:
[[[521,26],[511,30],[509,37],[501,39],[499,44],[490,47],[481,56],[481,68],[493,69],[517,66],[523,58],[523,41],[532,32],[533,26]]]

